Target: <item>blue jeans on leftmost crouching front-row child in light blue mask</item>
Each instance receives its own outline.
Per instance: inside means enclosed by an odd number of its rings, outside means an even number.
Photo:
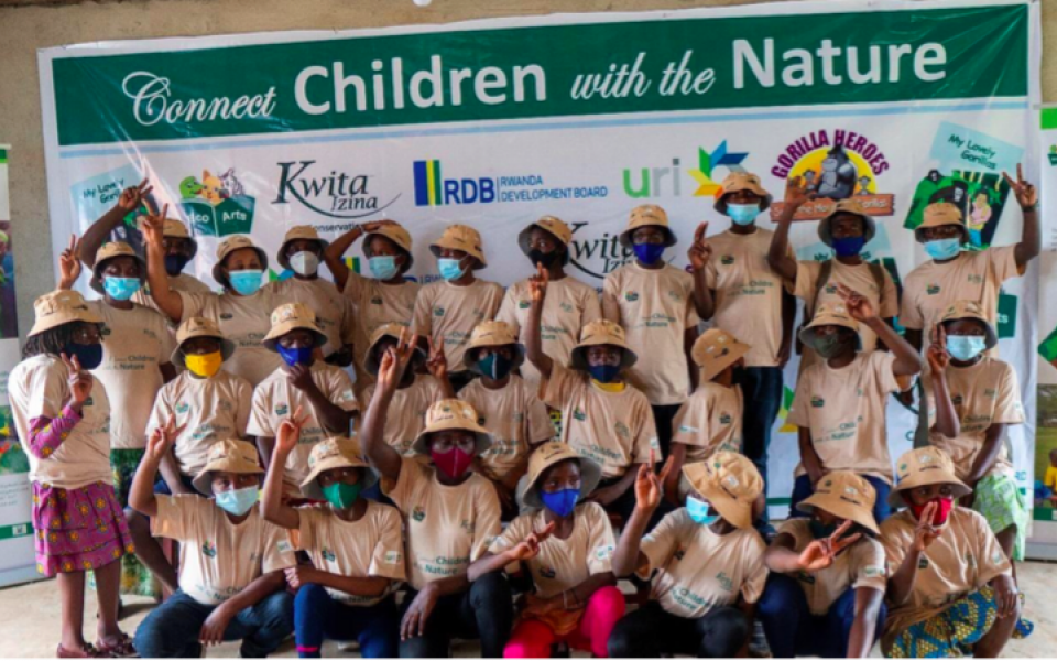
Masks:
[[[200,655],[201,626],[216,608],[199,604],[182,589],[176,590],[140,624],[135,630],[135,651],[144,659]],[[281,589],[240,610],[228,624],[224,639],[242,640],[242,657],[263,659],[293,630],[294,596]]]

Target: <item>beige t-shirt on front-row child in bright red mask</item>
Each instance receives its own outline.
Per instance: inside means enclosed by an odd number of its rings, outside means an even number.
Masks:
[[[881,543],[884,544],[890,576],[898,571],[907,549],[914,544],[916,523],[914,514],[903,510],[881,524]],[[944,525],[944,533],[922,554],[909,599],[889,610],[885,636],[898,633],[944,611],[999,574],[1010,572],[1010,561],[987,519],[956,506]]]

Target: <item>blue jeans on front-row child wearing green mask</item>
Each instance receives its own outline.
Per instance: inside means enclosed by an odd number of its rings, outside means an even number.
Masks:
[[[360,643],[364,659],[392,659],[400,653],[400,613],[388,597],[374,606],[349,606],[322,585],[304,585],[294,597],[297,655],[318,658],[325,638]]]

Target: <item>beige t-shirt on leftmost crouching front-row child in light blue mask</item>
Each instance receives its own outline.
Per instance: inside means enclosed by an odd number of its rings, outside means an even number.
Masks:
[[[155,498],[151,534],[181,542],[179,589],[199,604],[222,604],[261,575],[297,565],[286,531],[265,521],[259,506],[236,524],[211,498]]]

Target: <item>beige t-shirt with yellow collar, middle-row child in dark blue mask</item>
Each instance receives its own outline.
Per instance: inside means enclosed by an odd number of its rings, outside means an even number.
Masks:
[[[620,477],[632,464],[662,462],[653,409],[630,383],[621,392],[608,392],[590,376],[557,362],[543,383],[543,401],[562,409],[562,441],[582,457],[602,467],[602,477]]]

